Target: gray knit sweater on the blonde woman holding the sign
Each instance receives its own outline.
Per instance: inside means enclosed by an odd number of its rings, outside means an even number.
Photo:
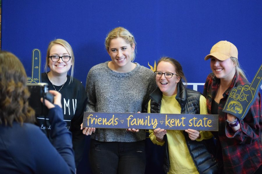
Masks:
[[[137,113],[147,111],[149,94],[155,89],[153,71],[139,65],[127,73],[118,73],[108,62],[93,66],[86,78],[86,112]],[[146,139],[145,130],[96,129],[91,138],[101,142],[136,142]]]

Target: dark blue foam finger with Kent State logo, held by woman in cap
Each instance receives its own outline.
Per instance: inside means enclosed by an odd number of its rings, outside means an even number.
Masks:
[[[250,85],[238,85],[231,89],[223,108],[223,112],[232,114],[240,120],[244,119],[249,108],[256,100],[259,86],[262,83],[261,79],[262,64]]]

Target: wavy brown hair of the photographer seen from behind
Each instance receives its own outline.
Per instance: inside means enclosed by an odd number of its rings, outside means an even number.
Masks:
[[[26,81],[20,60],[10,52],[0,51],[0,124],[35,122],[35,111],[28,105]]]

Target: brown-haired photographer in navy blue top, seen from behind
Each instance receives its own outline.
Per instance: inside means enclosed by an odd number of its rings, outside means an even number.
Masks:
[[[22,63],[10,52],[0,51],[0,171],[1,173],[75,173],[71,133],[65,129],[61,94],[47,118],[52,144],[34,125],[35,112],[28,105],[30,93]],[[39,101],[40,102],[40,101]]]

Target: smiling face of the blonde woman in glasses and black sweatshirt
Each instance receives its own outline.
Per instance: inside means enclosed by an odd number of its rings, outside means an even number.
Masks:
[[[54,44],[51,49],[49,56],[71,56],[68,51],[60,44]],[[64,62],[61,58],[58,62],[53,62],[51,58],[49,58],[49,68],[50,71],[53,74],[67,74],[67,72],[70,70],[72,66],[72,59],[70,59],[68,62]]]

